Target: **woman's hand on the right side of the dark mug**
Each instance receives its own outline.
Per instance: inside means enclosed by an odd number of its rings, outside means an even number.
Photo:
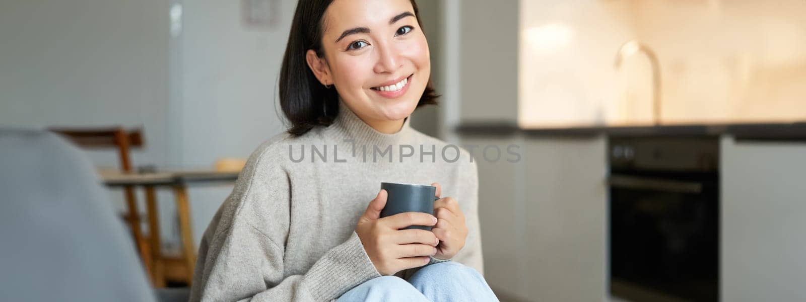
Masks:
[[[437,187],[437,196],[442,193],[438,183],[431,184]],[[467,225],[464,223],[464,213],[459,209],[459,203],[453,197],[440,198],[434,201],[434,216],[438,222],[431,230],[439,239],[436,259],[451,259],[464,247],[467,238]]]

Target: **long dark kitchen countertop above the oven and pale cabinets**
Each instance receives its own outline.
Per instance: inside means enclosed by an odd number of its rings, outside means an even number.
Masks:
[[[529,137],[608,136],[719,136],[730,134],[737,140],[806,142],[806,122],[692,124],[660,126],[580,126],[567,128],[521,129],[514,122],[464,122],[456,127],[463,135]]]

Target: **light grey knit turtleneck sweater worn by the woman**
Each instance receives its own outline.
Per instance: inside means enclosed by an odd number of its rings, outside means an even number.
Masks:
[[[451,260],[483,273],[476,163],[409,122],[383,134],[340,102],[332,125],[260,145],[202,238],[190,300],[330,301],[380,276],[355,223],[381,181],[441,184],[468,230]]]

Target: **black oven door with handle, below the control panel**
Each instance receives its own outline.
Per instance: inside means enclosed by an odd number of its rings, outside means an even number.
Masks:
[[[717,301],[716,173],[613,174],[609,270],[613,296],[633,301]]]

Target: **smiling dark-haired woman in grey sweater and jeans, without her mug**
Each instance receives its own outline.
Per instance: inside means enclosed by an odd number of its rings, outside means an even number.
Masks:
[[[409,126],[435,103],[429,78],[413,0],[301,0],[280,71],[290,129],[251,155],[207,228],[191,300],[496,300],[476,163]],[[446,197],[434,216],[380,218],[381,181]]]

